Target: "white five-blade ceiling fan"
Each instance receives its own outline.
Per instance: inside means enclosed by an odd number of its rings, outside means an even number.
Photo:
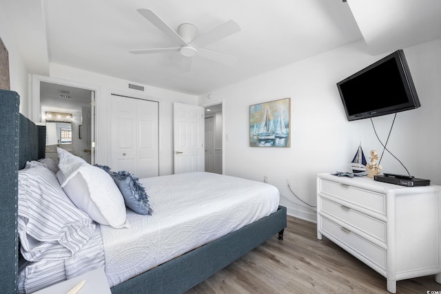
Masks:
[[[194,56],[199,56],[204,59],[209,59],[227,65],[234,65],[236,63],[237,58],[234,56],[203,48],[206,45],[239,32],[240,27],[234,21],[229,20],[218,25],[216,28],[205,34],[198,35],[198,28],[196,28],[196,26],[192,23],[182,23],[179,25],[178,31],[176,32],[152,10],[138,9],[136,11],[145,17],[147,21],[150,21],[154,26],[156,26],[156,28],[167,34],[167,36],[169,36],[170,39],[176,43],[176,47],[131,50],[129,51],[130,53],[150,54],[161,52],[180,52],[182,55],[181,72],[190,71],[192,58]]]

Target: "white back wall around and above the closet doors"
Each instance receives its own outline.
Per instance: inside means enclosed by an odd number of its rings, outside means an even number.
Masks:
[[[149,85],[145,87],[145,92],[128,88],[130,81],[125,81],[112,76],[104,76],[73,67],[66,67],[55,63],[50,63],[50,77],[63,78],[76,83],[85,83],[90,87],[96,88],[96,163],[109,165],[110,133],[112,129],[108,127],[108,102],[111,94],[119,94],[134,98],[148,99],[159,102],[159,174],[173,174],[173,103],[187,103],[196,105],[197,97],[164,90]]]

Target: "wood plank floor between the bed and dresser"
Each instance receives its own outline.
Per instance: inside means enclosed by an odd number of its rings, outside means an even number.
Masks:
[[[397,293],[427,291],[441,293],[434,275],[397,282]],[[382,275],[327,238],[317,240],[316,224],[288,216],[283,241],[274,235],[185,294],[195,293],[389,292]]]

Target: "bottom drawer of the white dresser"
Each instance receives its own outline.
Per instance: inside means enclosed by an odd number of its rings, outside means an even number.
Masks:
[[[335,222],[320,216],[320,229],[338,240],[337,244],[349,246],[349,253],[358,253],[380,269],[386,269],[387,253],[375,244],[361,238],[345,228],[340,227]],[[358,256],[357,256],[358,257]]]

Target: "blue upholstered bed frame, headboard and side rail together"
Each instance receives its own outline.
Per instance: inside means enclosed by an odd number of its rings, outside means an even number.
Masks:
[[[0,90],[1,103],[1,235],[0,286],[5,293],[18,293],[19,236],[17,231],[17,178],[29,160],[44,158],[45,128],[36,126],[19,114],[19,95]],[[161,178],[161,177],[159,177]],[[149,185],[145,182],[144,185]],[[202,282],[268,238],[278,234],[283,239],[287,225],[286,208],[278,206],[268,216],[246,224],[236,231],[202,246],[178,253],[124,282],[116,282],[112,293],[183,293]],[[140,292],[141,291],[141,292]]]

